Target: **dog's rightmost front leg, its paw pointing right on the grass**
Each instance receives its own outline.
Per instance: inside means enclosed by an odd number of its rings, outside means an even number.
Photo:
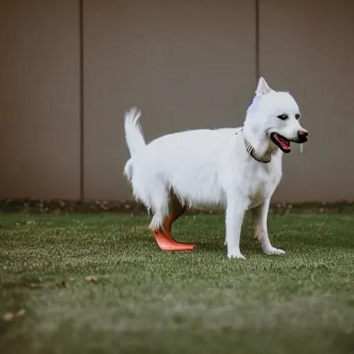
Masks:
[[[266,254],[285,254],[283,250],[274,248],[268,236],[267,218],[270,198],[266,199],[259,207],[252,209],[252,224],[254,227],[254,237],[261,241],[263,252]]]

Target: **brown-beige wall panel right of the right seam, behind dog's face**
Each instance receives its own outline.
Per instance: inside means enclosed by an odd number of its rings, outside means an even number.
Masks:
[[[260,74],[295,95],[310,133],[274,200],[354,200],[354,1],[259,1]]]

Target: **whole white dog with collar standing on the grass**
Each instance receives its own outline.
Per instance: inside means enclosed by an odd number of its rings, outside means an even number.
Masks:
[[[263,251],[285,253],[274,248],[268,237],[270,198],[281,180],[281,159],[290,152],[290,141],[308,140],[290,93],[273,91],[261,77],[243,127],[172,133],[148,145],[139,118],[136,108],[125,114],[131,158],[124,175],[135,198],[153,212],[149,227],[162,250],[194,248],[171,238],[171,224],[188,207],[218,206],[226,210],[229,258],[245,258],[239,243],[248,209]]]

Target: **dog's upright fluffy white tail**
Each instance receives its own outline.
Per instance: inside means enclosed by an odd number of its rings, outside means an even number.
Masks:
[[[141,111],[136,107],[125,112],[124,115],[125,140],[127,140],[128,149],[132,157],[146,145],[139,122],[140,117]]]

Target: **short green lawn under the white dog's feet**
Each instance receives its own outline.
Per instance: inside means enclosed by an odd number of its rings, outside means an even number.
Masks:
[[[0,215],[0,353],[354,353],[354,218],[270,214],[267,256],[247,217],[227,259],[223,215]],[[86,281],[87,276],[97,282]],[[31,285],[39,288],[31,288]],[[33,286],[33,285],[32,285]]]

